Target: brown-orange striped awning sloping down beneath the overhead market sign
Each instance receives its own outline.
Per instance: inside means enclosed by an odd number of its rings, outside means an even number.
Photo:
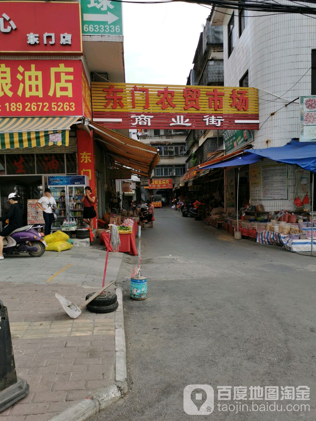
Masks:
[[[135,174],[151,176],[153,169],[159,162],[157,149],[97,123],[90,122],[89,126],[115,162],[134,169]]]

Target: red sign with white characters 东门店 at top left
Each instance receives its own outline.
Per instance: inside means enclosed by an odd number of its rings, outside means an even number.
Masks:
[[[80,3],[0,2],[1,54],[82,54]]]

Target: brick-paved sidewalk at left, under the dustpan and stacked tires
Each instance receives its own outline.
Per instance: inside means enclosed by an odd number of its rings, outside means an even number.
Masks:
[[[107,283],[116,280],[122,256],[110,254]],[[55,298],[57,292],[78,305],[85,301],[102,286],[104,261],[105,252],[91,248],[1,261],[0,299],[8,307],[16,373],[29,383],[29,394],[1,412],[0,421],[46,421],[115,384],[122,305],[108,314],[83,309],[72,320]]]

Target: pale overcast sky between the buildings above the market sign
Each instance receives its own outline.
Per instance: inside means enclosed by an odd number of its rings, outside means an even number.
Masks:
[[[185,85],[210,9],[123,3],[126,82]]]

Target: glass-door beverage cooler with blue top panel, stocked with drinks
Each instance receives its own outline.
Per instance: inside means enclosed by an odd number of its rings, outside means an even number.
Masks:
[[[83,226],[83,203],[80,202],[84,188],[89,185],[88,176],[48,176],[48,188],[57,204],[57,221],[52,230],[61,229],[64,219],[75,219],[77,227]]]

